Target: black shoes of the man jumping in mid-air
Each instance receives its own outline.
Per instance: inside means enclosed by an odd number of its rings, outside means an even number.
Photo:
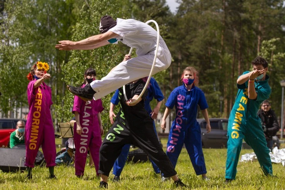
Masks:
[[[85,102],[91,101],[93,99],[93,95],[96,93],[90,84],[87,84],[84,88],[74,87],[67,85],[67,89],[74,95],[80,97]]]

